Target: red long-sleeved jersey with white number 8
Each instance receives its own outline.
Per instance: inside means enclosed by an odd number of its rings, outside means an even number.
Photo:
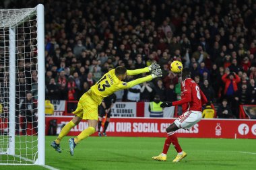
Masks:
[[[182,105],[182,111],[187,112],[202,111],[202,105],[207,103],[207,99],[199,85],[193,79],[185,79],[181,83],[181,100],[172,102],[172,105]]]

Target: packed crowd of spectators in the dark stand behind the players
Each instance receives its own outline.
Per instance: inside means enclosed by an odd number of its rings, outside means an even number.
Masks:
[[[239,104],[256,103],[255,1],[49,0],[44,9],[49,99],[77,100],[110,69],[157,62],[162,79],[118,91],[117,101],[174,101],[181,77],[170,63],[181,60],[208,101],[228,103],[227,118],[238,118]]]

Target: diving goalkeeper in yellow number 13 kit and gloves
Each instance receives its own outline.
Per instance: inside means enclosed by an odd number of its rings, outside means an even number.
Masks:
[[[75,138],[69,139],[69,151],[73,156],[75,145],[96,132],[96,126],[98,124],[98,105],[100,105],[102,99],[115,91],[128,89],[134,85],[151,81],[156,77],[162,77],[162,70],[159,68],[160,66],[158,64],[153,63],[150,67],[145,67],[143,69],[127,70],[125,67],[119,66],[116,69],[108,71],[108,73],[93,85],[89,91],[82,95],[78,101],[77,109],[73,112],[75,117],[63,127],[57,139],[51,143],[51,146],[61,153],[60,142],[62,138],[69,133],[71,128],[79,124],[82,119],[87,120],[88,128],[83,130]],[[152,71],[151,75],[146,77],[129,82],[122,81],[127,75],[138,75],[150,71]]]

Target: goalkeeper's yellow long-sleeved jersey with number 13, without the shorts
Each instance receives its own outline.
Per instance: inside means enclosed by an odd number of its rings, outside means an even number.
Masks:
[[[138,75],[141,73],[149,72],[148,67],[143,69],[136,70],[127,70],[127,75]],[[124,82],[120,81],[115,75],[115,69],[108,71],[95,85],[91,87],[92,93],[94,93],[98,100],[102,100],[104,97],[114,93],[115,91],[119,91],[121,89],[128,89],[133,87],[134,85],[143,83],[145,81],[151,81],[152,75],[148,75],[146,77],[135,79],[133,81]]]

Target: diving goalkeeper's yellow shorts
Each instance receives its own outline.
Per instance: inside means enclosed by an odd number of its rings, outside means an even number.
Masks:
[[[93,97],[95,95],[91,90],[84,93],[79,99],[77,104],[77,109],[73,112],[79,118],[84,120],[98,120],[98,105],[101,103],[102,99],[98,97]]]

